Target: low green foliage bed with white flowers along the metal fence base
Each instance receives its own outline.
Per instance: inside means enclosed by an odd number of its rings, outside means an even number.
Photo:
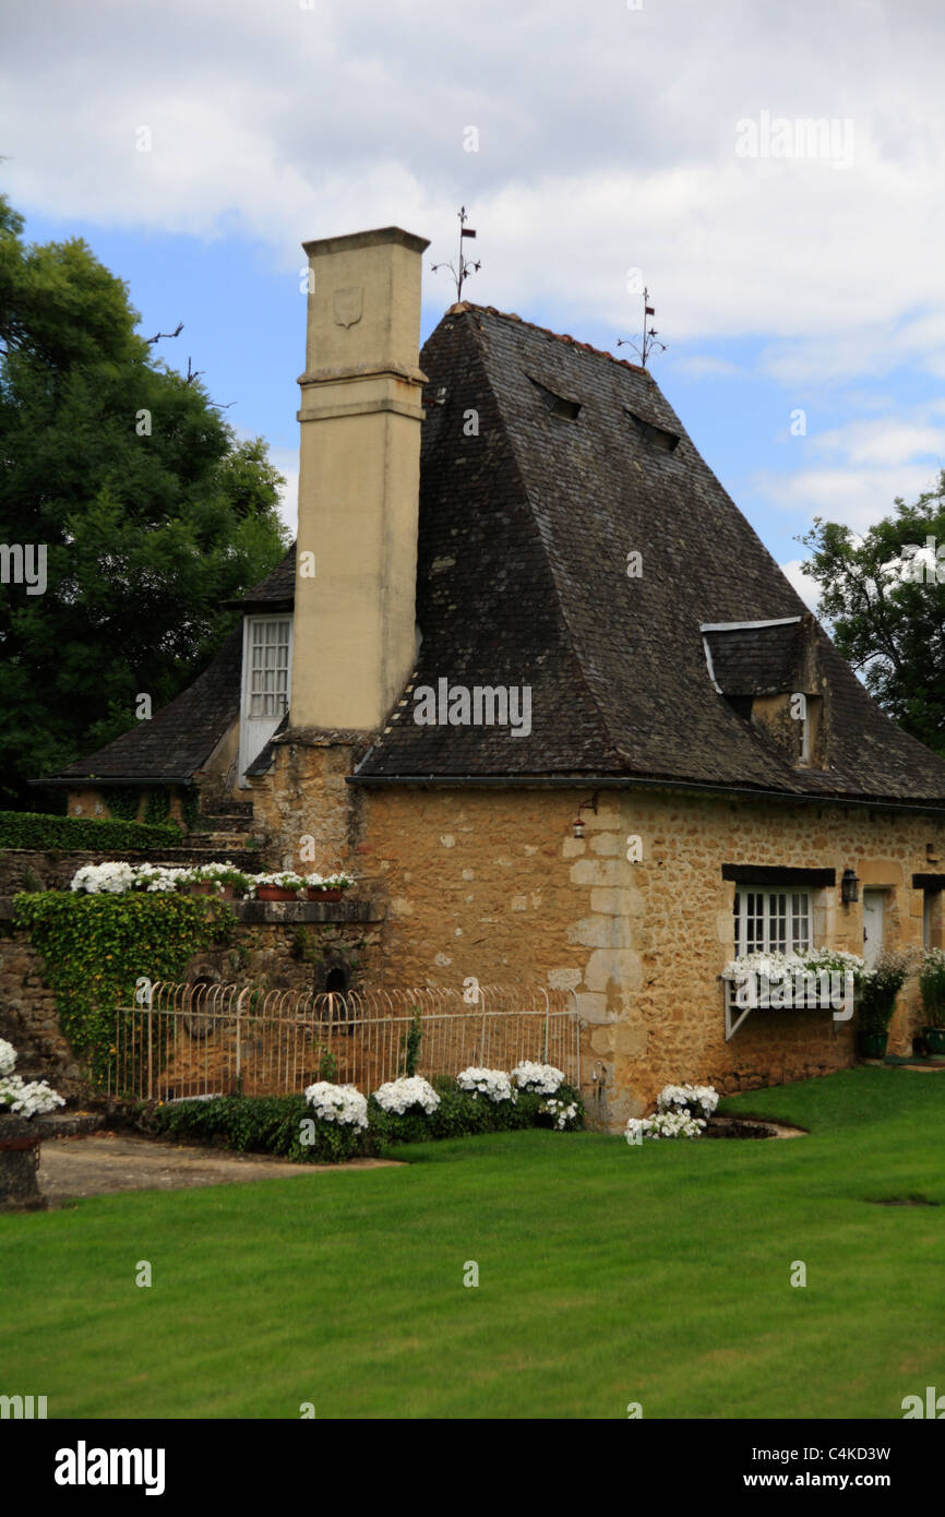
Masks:
[[[303,1095],[215,1095],[173,1101],[170,1106],[143,1107],[138,1121],[152,1133],[218,1142],[241,1153],[281,1154],[296,1164],[338,1164],[358,1154],[375,1156],[400,1142],[552,1126],[551,1117],[542,1112],[543,1095],[520,1091],[517,1101],[493,1103],[488,1097],[460,1091],[454,1080],[437,1079],[431,1083],[440,1106],[429,1115],[385,1112],[372,1097],[367,1129],[316,1121],[314,1141],[305,1144],[302,1123],[311,1121],[312,1110]],[[575,1101],[582,1118],[579,1097],[570,1086],[563,1085],[557,1100]]]

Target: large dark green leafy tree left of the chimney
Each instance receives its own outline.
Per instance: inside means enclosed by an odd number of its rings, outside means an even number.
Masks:
[[[285,551],[265,443],[240,443],[137,323],[86,243],[27,246],[0,196],[0,545],[35,549],[32,587],[9,552],[0,584],[8,806],[133,727],[140,692],[177,695],[234,625],[224,602]]]

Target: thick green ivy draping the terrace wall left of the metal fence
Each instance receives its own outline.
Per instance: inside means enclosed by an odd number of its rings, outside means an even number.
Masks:
[[[42,959],[62,1032],[99,1082],[115,1042],[115,1007],[133,1003],[137,981],[181,980],[188,959],[229,944],[234,930],[223,901],[133,892],[21,892],[14,921]]]

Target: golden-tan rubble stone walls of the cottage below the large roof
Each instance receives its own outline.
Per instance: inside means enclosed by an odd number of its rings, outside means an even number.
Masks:
[[[352,865],[388,906],[378,983],[461,988],[475,975],[573,988],[584,1091],[607,1126],[649,1109],[667,1082],[731,1092],[848,1066],[852,1027],[830,1012],[752,1012],[725,1042],[719,975],[734,956],[736,886],[722,865],[834,869],[836,886],[815,892],[816,942],[857,953],[862,901],[843,907],[839,883],[852,866],[862,887],[887,890],[887,944],[919,945],[922,892],[912,874],[945,854],[940,821],[605,790],[576,839],[570,824],[589,795],[363,792]],[[629,862],[637,837],[642,856]],[[892,1053],[910,1051],[916,1022],[913,985]]]

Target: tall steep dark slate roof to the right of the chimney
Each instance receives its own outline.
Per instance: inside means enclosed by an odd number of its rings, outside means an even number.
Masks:
[[[420,364],[428,396],[446,393],[423,423],[419,666],[358,778],[633,775],[945,806],[945,763],[883,715],[816,623],[830,771],[795,769],[713,687],[704,623],[807,607],[649,373],[469,303]],[[413,689],[441,677],[531,686],[531,736],[417,725]]]

